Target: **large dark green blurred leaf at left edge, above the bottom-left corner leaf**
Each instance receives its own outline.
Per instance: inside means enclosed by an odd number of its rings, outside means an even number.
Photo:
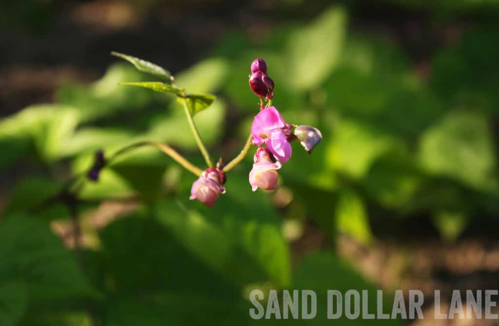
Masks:
[[[11,215],[0,224],[0,279],[26,286],[30,304],[89,298],[90,287],[75,256],[35,216]]]

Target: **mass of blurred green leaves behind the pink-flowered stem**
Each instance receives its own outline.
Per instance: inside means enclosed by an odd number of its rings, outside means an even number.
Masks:
[[[454,14],[495,3],[443,1],[439,9]],[[421,76],[401,44],[361,33],[348,21],[348,8],[333,6],[305,24],[272,26],[258,39],[232,30],[210,57],[177,74],[173,86],[167,70],[128,58],[165,79],[160,88],[174,94],[118,85],[154,78],[117,63],[96,82],[62,85],[55,103],[2,119],[0,167],[26,173],[2,207],[0,325],[250,325],[251,288],[376,293],[362,271],[329,248],[298,257],[292,268],[283,219],[312,220],[332,242],[342,233],[369,245],[376,241],[373,220],[430,216],[442,237],[454,241],[479,218],[497,217],[495,22],[479,21],[444,42],[428,58],[428,76]],[[293,144],[292,158],[279,170],[292,194],[286,207],[272,204],[273,193],[251,192],[251,155],[229,173],[227,194],[208,209],[187,200],[194,178],[147,148],[114,161],[98,183],[82,180],[78,202],[52,204],[69,174],[86,173],[97,149],[109,154],[155,140],[201,166],[175,101],[182,88],[217,94],[216,100],[193,97],[191,109],[205,143],[228,161],[238,149],[221,145],[243,144],[257,110],[247,79],[255,57],[267,62],[273,104],[284,119],[316,126],[324,136],[312,155]],[[227,148],[234,152],[222,153]],[[106,200],[136,206],[99,229],[91,249],[65,249],[50,222],[71,221],[74,207],[83,220]]]

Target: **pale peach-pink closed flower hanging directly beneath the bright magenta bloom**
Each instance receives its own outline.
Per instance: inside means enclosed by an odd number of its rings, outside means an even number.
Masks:
[[[250,171],[251,189],[255,191],[258,187],[265,190],[277,188],[278,169],[280,162],[273,162],[272,154],[268,149],[260,147],[254,154],[254,164]]]

